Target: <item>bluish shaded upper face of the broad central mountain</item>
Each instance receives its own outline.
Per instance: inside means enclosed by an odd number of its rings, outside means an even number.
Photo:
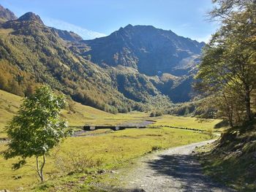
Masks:
[[[108,37],[83,42],[90,50],[85,50],[82,55],[90,55],[94,63],[130,66],[148,75],[175,72],[182,60],[199,56],[205,45],[179,37],[173,31],[132,25],[120,28]]]

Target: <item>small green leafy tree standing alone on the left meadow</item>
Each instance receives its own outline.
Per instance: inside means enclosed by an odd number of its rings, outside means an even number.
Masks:
[[[35,156],[37,174],[41,181],[44,180],[45,155],[69,134],[67,123],[59,117],[65,105],[64,96],[57,96],[47,86],[37,88],[33,95],[23,100],[18,114],[6,127],[10,142],[4,157],[21,157],[13,164],[13,169],[19,169],[26,164],[26,158]],[[42,158],[41,164],[39,158]]]

